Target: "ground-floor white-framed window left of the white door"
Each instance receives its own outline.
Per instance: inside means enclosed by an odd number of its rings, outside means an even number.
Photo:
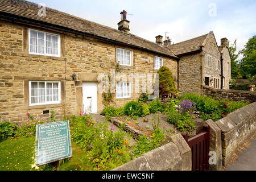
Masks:
[[[60,103],[60,81],[29,81],[30,106]]]

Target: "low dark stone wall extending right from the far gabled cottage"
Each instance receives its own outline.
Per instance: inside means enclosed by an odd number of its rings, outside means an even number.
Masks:
[[[249,103],[256,102],[256,93],[244,90],[224,90],[213,89],[207,85],[203,85],[204,96],[221,97],[233,101],[248,101]]]

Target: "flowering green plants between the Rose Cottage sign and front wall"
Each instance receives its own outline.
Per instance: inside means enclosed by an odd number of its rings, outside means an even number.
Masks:
[[[93,169],[110,170],[131,160],[124,131],[109,129],[108,122],[94,122],[89,114],[80,115],[71,123],[72,140],[86,151]]]

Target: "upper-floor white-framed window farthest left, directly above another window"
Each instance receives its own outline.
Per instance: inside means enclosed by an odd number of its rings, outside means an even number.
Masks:
[[[60,35],[29,28],[28,53],[60,57]]]

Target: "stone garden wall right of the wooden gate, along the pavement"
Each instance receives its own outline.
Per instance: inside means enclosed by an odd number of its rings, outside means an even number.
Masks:
[[[226,166],[243,142],[256,130],[256,102],[215,123],[221,129],[222,164]]]

